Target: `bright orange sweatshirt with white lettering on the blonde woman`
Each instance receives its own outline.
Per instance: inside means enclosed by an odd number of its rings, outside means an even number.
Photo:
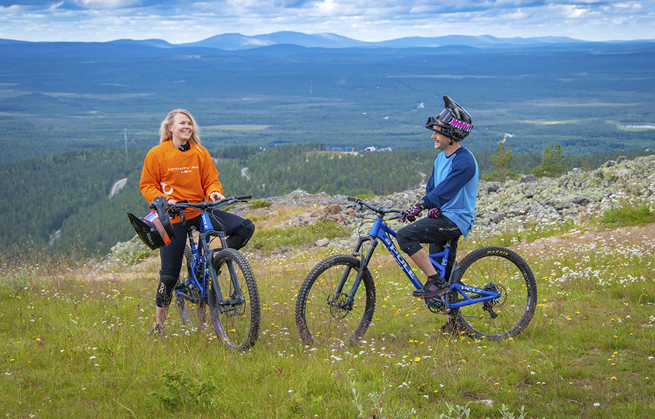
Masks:
[[[212,192],[223,193],[218,171],[207,149],[202,145],[190,146],[188,151],[182,152],[172,141],[165,141],[150,149],[143,161],[139,183],[141,194],[148,203],[157,196],[199,203]],[[187,219],[199,214],[198,210],[184,210]],[[178,223],[180,219],[176,217],[171,221]]]

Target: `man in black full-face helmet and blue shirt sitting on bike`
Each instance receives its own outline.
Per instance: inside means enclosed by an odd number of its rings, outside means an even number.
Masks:
[[[437,248],[436,253],[444,248],[449,239],[466,237],[473,226],[475,198],[477,196],[478,166],[470,151],[460,146],[459,142],[469,135],[473,128],[471,115],[458,103],[444,96],[445,109],[439,117],[430,117],[425,124],[432,132],[435,149],[441,150],[434,161],[432,176],[425,186],[425,196],[418,203],[404,210],[401,221],[409,221],[409,226],[398,230],[396,239],[400,249],[425,272],[428,281],[412,295],[430,298],[448,292],[450,272],[455,263],[457,240],[453,240],[448,263],[446,279],[442,279],[430,262],[428,252],[421,243],[430,243]],[[423,210],[428,216],[416,221]]]

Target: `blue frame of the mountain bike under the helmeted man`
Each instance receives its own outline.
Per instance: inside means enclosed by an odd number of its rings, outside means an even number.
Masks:
[[[407,278],[409,281],[411,281],[411,284],[413,284],[416,289],[422,288],[423,284],[421,284],[421,281],[418,280],[418,277],[416,277],[416,274],[414,274],[414,271],[411,270],[411,267],[409,267],[409,264],[407,263],[407,260],[400,254],[400,251],[395,246],[395,243],[389,235],[396,237],[396,232],[390,228],[389,226],[384,223],[383,219],[381,216],[376,217],[373,226],[371,230],[369,231],[368,235],[365,237],[360,237],[357,244],[355,245],[355,251],[353,252],[353,256],[358,256],[360,257],[360,267],[366,267],[368,266],[369,261],[371,260],[373,256],[373,252],[375,251],[375,248],[377,247],[379,240],[381,240],[382,244],[386,247],[386,249],[391,253],[391,256],[393,256],[394,260],[398,265],[400,265],[400,268],[404,272],[405,275],[407,275]],[[364,256],[362,253],[360,253],[360,250],[362,249],[362,246],[366,242],[371,242],[371,248],[369,249],[368,253],[366,256]],[[437,270],[437,273],[439,273],[439,276],[442,278],[446,277],[446,263],[448,263],[448,257],[450,255],[450,249],[451,249],[451,242],[450,240],[446,243],[446,247],[443,251],[439,251],[437,253],[430,253],[430,262],[432,262],[432,265],[435,267]],[[436,258],[442,258],[441,263],[437,263],[435,260]],[[348,277],[348,274],[350,273],[350,268],[346,268],[346,271],[344,274],[341,276],[341,280],[339,281],[339,284],[337,285],[335,295],[341,293],[341,290],[344,288],[346,278]],[[350,305],[353,302],[353,298],[355,296],[355,292],[359,288],[359,285],[362,280],[362,275],[364,274],[364,270],[360,269],[357,277],[355,278],[355,283],[351,287],[351,290],[348,292],[348,299],[346,302],[343,304],[344,307],[350,307]],[[452,279],[455,279],[452,281]],[[493,300],[495,298],[500,297],[499,293],[494,293],[491,291],[486,291],[486,290],[481,290],[480,288],[475,288],[472,286],[465,286],[463,284],[459,283],[459,278],[451,278],[451,284],[450,284],[450,289],[452,291],[457,291],[462,297],[464,297],[463,301],[460,302],[454,302],[451,303],[449,302],[448,298],[444,298],[444,303],[446,305],[447,309],[456,309],[459,307],[463,307],[465,305],[470,305],[470,304],[477,304],[479,302],[484,302],[487,300]],[[474,293],[477,294],[476,297],[471,297],[467,293]],[[425,303],[430,304],[431,299],[426,299]]]

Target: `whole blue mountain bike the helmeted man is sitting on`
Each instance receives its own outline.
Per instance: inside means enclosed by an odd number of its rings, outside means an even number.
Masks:
[[[375,308],[375,284],[368,269],[381,241],[416,289],[423,284],[397,250],[390,236],[395,231],[384,220],[400,213],[348,197],[358,211],[376,214],[373,226],[360,235],[351,255],[325,258],[304,279],[297,295],[295,321],[304,344],[355,344],[371,323]],[[396,214],[390,219],[397,219]],[[362,221],[363,223],[363,221]],[[369,244],[366,255],[362,247]],[[444,251],[430,254],[432,265],[442,278],[451,242]],[[439,260],[439,261],[437,261]],[[482,247],[455,263],[449,278],[449,293],[425,299],[434,313],[446,313],[451,330],[463,330],[478,339],[500,340],[519,335],[533,318],[537,286],[530,266],[521,256],[503,247]],[[361,285],[365,292],[358,292]]]

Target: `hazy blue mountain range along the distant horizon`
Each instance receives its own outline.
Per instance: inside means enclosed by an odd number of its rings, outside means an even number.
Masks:
[[[0,39],[0,44],[7,43],[24,43],[25,41],[14,41],[9,39]],[[630,43],[633,41],[612,41],[612,43]],[[132,44],[144,45],[158,48],[175,48],[175,47],[210,47],[220,50],[248,50],[258,47],[269,47],[272,45],[297,45],[300,47],[311,48],[351,48],[351,47],[393,47],[393,48],[410,48],[410,47],[442,47],[448,45],[462,45],[477,48],[502,48],[513,46],[535,46],[535,45],[554,45],[554,44],[580,44],[591,43],[591,41],[581,41],[566,36],[540,36],[533,38],[496,38],[491,35],[467,36],[467,35],[449,35],[437,37],[412,36],[407,38],[397,38],[389,41],[365,42],[357,41],[346,36],[337,34],[303,34],[301,32],[281,31],[273,34],[263,34],[246,36],[242,34],[220,34],[206,38],[203,41],[193,43],[171,44],[161,39],[132,40],[120,39],[111,41],[115,44]]]

